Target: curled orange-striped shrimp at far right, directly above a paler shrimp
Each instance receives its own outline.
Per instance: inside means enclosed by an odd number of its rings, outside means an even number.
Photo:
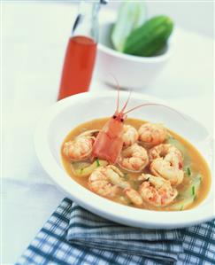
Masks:
[[[159,144],[150,149],[150,161],[157,158],[164,158],[169,161],[174,168],[183,168],[183,156],[178,148],[172,144]]]

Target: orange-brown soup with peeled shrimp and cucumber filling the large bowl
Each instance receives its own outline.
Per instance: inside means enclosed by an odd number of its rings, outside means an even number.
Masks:
[[[114,156],[115,136],[106,143],[105,131],[96,143],[109,122],[110,118],[87,121],[65,137],[62,162],[74,181],[106,199],[148,210],[182,211],[205,199],[211,173],[192,144],[164,125],[128,118],[113,162],[105,155],[110,149]],[[102,153],[94,155],[96,148]]]

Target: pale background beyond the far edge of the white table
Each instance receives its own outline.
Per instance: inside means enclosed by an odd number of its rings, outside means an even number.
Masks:
[[[132,0],[126,1],[132,2]],[[59,2],[70,5],[79,1],[57,1]],[[121,1],[118,0],[109,0],[108,7],[115,10],[120,3]],[[166,14],[173,18],[179,27],[211,37],[214,35],[214,1],[212,0],[146,0],[145,3],[149,16]]]

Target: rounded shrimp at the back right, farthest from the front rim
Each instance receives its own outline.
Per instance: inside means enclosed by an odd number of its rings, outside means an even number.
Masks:
[[[143,146],[152,147],[165,141],[167,130],[158,123],[144,123],[138,130],[139,140]]]

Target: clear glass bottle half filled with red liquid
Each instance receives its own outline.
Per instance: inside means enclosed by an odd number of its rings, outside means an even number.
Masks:
[[[69,39],[58,100],[88,91],[96,60],[97,13],[105,0],[81,1],[80,12]]]

